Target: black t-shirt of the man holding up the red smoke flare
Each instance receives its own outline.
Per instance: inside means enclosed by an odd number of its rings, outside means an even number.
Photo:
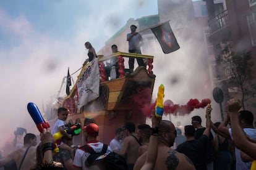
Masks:
[[[205,127],[202,127],[200,129],[197,129],[195,131],[195,139],[199,139],[202,135],[203,132],[205,131]],[[213,147],[213,134],[210,132],[206,152],[205,152],[205,157],[207,158],[207,163],[210,163],[213,161],[213,156],[214,156],[214,147]]]

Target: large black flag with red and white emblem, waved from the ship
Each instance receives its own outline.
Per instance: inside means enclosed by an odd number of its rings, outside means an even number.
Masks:
[[[168,54],[179,49],[179,44],[177,43],[173,31],[171,30],[169,21],[155,26],[154,28],[151,28],[151,30],[158,39],[164,54]]]

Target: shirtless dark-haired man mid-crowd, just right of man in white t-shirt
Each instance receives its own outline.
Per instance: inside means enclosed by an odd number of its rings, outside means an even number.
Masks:
[[[120,155],[126,156],[127,158],[127,169],[133,169],[134,163],[139,157],[139,140],[135,133],[135,124],[127,122],[124,125],[124,133],[127,133],[127,137],[124,138],[122,150],[119,152]]]

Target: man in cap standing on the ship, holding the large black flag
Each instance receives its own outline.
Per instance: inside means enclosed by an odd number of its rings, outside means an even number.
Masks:
[[[143,38],[141,34],[136,32],[137,26],[130,25],[130,33],[127,34],[127,41],[129,42],[129,52],[142,54],[140,47],[143,45]],[[145,66],[143,59],[136,58],[139,66]],[[134,71],[134,57],[129,57],[130,72]]]

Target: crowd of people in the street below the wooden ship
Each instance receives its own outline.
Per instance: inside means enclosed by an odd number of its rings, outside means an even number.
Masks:
[[[59,108],[52,133],[44,129],[39,145],[34,134],[26,134],[23,147],[2,158],[0,166],[14,161],[16,167],[9,169],[109,169],[98,160],[102,155],[115,153],[124,158],[124,169],[251,169],[256,159],[254,116],[240,109],[238,99],[229,100],[226,119],[213,123],[211,108],[207,107],[205,127],[200,116],[193,116],[191,124],[184,126],[186,141],[176,144],[176,149],[173,146],[179,129],[171,121],[156,118],[153,111],[151,126],[140,124],[136,128],[134,123],[127,122],[116,129],[109,145],[97,140],[100,131],[97,124],[87,124],[82,128],[87,142],[74,150],[70,147],[72,136],[63,131],[67,110]],[[59,143],[53,137],[56,131],[62,133]],[[56,143],[59,152],[54,153]],[[93,158],[96,153],[101,155]]]

